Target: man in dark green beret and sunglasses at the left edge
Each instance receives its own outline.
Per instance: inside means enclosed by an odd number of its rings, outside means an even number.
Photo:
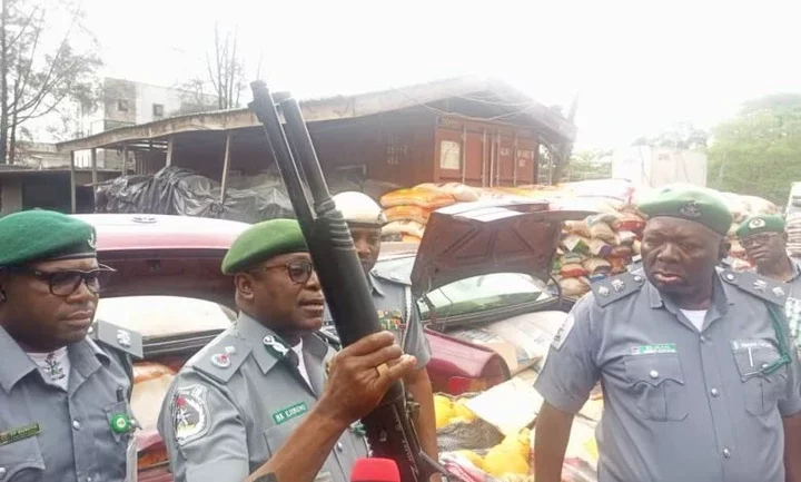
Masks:
[[[129,355],[141,356],[141,337],[92,325],[109,270],[95,228],[22,212],[0,219],[0,480],[126,480],[137,462]]]

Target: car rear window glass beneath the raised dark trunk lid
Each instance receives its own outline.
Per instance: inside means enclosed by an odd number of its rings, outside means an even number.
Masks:
[[[388,257],[378,262],[385,276],[409,283],[414,256]],[[417,301],[421,317],[469,315],[553,297],[541,279],[522,273],[491,273],[449,283]]]

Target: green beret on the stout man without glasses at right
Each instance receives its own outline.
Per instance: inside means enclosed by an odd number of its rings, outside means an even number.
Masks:
[[[637,206],[647,217],[669,216],[706,226],[725,236],[731,228],[732,214],[711,189],[691,185],[671,185],[656,189]]]

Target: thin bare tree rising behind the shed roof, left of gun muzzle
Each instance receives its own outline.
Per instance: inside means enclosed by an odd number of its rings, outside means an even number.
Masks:
[[[241,91],[247,86],[245,78],[245,61],[238,51],[239,33],[237,30],[220,33],[219,24],[215,23],[215,46],[212,52],[206,52],[206,78],[194,78],[182,88],[195,94],[195,101],[188,100],[186,112],[194,111],[196,107],[208,107],[206,92],[214,92],[217,97],[217,108],[238,108]],[[190,96],[191,97],[191,96]],[[208,110],[208,109],[206,109]]]

